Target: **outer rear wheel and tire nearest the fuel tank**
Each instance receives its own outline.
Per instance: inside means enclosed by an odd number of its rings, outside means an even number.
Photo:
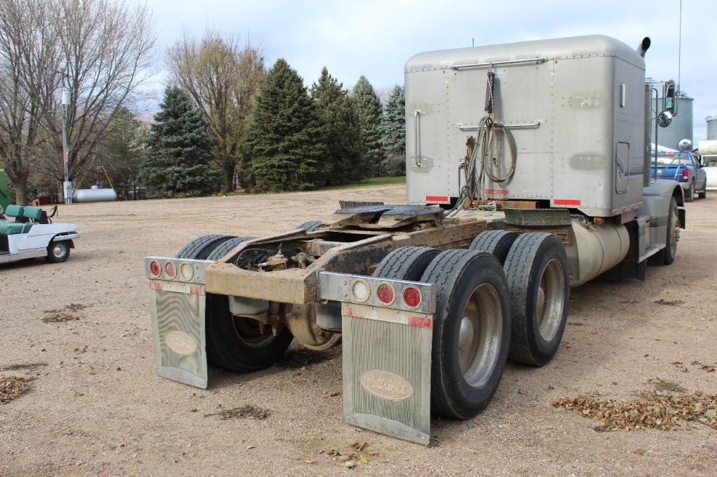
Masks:
[[[525,365],[546,365],[560,346],[568,318],[565,248],[552,234],[523,233],[508,252],[504,269],[513,317],[509,357]]]

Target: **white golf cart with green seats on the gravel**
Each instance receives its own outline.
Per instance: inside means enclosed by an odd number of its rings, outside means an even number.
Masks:
[[[0,264],[40,256],[51,263],[65,261],[75,248],[72,240],[80,236],[77,226],[52,223],[39,207],[10,205],[4,216],[0,218]]]

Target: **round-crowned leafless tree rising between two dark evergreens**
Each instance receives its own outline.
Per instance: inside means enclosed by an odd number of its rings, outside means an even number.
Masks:
[[[224,175],[224,192],[234,190],[239,145],[266,70],[260,49],[239,37],[209,29],[201,42],[187,34],[167,51],[171,80],[204,112],[215,140],[214,157]]]

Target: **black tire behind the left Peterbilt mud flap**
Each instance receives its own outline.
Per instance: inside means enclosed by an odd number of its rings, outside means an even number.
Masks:
[[[252,372],[270,367],[294,338],[286,327],[274,336],[270,326],[261,332],[256,320],[234,318],[224,295],[206,294],[206,317],[206,356],[228,370]]]

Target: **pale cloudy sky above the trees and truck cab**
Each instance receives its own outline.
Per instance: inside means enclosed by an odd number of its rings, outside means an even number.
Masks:
[[[267,66],[285,58],[307,85],[321,67],[345,87],[364,74],[376,88],[403,84],[406,60],[431,49],[607,34],[630,46],[652,39],[647,76],[678,78],[679,0],[148,0],[158,59],[183,31],[207,26],[264,49]],[[717,1],[683,0],[682,89],[695,99],[694,139],[717,115]]]

